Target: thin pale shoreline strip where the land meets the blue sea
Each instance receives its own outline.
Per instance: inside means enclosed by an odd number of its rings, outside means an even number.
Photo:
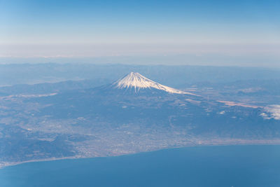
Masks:
[[[270,140],[272,141],[272,140]],[[22,165],[28,162],[45,162],[45,161],[55,161],[55,160],[73,160],[73,159],[80,159],[80,158],[107,158],[107,157],[116,157],[116,156],[123,156],[123,155],[134,155],[134,154],[138,154],[138,153],[148,153],[148,152],[153,152],[153,151],[162,151],[165,149],[173,149],[173,148],[188,148],[188,147],[202,147],[202,146],[280,146],[280,139],[276,140],[276,142],[272,143],[272,142],[267,142],[267,143],[258,143],[255,142],[255,144],[251,143],[251,144],[196,144],[196,145],[189,145],[189,146],[171,146],[171,147],[167,147],[167,148],[158,148],[155,150],[151,150],[151,151],[139,151],[136,153],[126,153],[126,154],[118,154],[116,153],[115,155],[104,155],[104,156],[91,156],[91,157],[87,157],[87,156],[82,156],[82,155],[75,155],[75,156],[70,156],[70,157],[62,157],[62,158],[43,158],[43,159],[38,159],[38,160],[26,160],[26,161],[22,161],[22,162],[0,162],[0,169],[4,169],[6,167],[11,167],[11,166],[15,166],[15,165]]]

